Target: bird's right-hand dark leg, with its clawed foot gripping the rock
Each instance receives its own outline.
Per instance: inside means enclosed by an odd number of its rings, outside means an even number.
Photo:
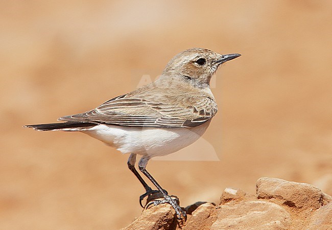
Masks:
[[[151,182],[153,183],[153,185],[160,191],[160,193],[164,197],[163,200],[155,200],[155,201],[153,201],[153,204],[154,205],[158,205],[158,204],[161,204],[161,203],[169,203],[174,208],[178,219],[182,219],[182,217],[184,217],[186,219],[186,213],[185,213],[184,210],[181,209],[181,207],[177,203],[177,199],[174,199],[174,198],[170,197],[168,195],[167,191],[165,191],[164,189],[162,189],[161,186],[159,185],[159,183],[146,170],[146,167],[147,167],[147,164],[148,164],[149,160],[150,160],[149,156],[143,156],[139,160],[139,162],[138,162],[138,168],[139,168],[139,170],[141,172],[143,172],[144,175],[146,175],[146,177],[149,178],[149,180],[151,180]]]

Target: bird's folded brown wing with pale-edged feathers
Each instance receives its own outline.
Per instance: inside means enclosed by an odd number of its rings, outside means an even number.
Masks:
[[[156,100],[122,95],[113,98],[96,109],[65,116],[60,121],[92,122],[138,127],[195,127],[210,120],[217,112],[217,104],[210,98],[202,98],[192,106],[168,104]]]

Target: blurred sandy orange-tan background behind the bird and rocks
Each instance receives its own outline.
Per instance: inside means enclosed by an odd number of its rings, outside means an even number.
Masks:
[[[22,125],[127,93],[193,47],[243,55],[212,89],[204,140],[221,161],[152,161],[159,183],[182,206],[218,202],[226,187],[254,193],[262,176],[331,195],[331,12],[328,0],[1,1],[0,228],[118,229],[139,216],[128,155]]]

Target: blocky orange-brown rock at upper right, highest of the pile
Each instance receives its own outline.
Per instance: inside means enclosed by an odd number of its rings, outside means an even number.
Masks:
[[[331,197],[307,183],[262,177],[257,180],[258,199],[287,205],[292,209],[317,210],[331,201]]]

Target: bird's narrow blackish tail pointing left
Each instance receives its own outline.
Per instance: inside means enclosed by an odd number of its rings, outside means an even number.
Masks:
[[[33,128],[38,131],[62,130],[62,131],[83,131],[98,124],[88,122],[64,122],[38,125],[25,125],[23,127]]]

